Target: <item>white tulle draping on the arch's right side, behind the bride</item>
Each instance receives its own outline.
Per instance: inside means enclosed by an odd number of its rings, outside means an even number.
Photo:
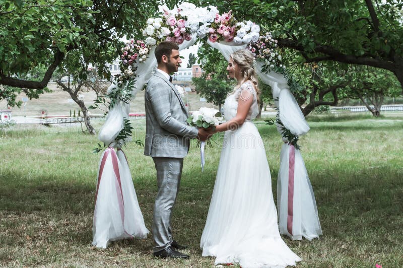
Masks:
[[[218,49],[228,60],[232,52],[245,48],[246,45],[235,45],[233,42],[211,42],[207,43]],[[309,131],[309,126],[305,120],[297,101],[290,92],[290,87],[283,74],[276,72],[261,72],[264,62],[256,62],[255,70],[260,80],[272,87],[273,98],[279,108],[279,117],[286,128],[294,135],[302,136]],[[316,208],[315,196],[305,168],[304,160],[299,150],[294,148],[294,170],[289,169],[290,155],[289,144],[283,145],[281,153],[281,167],[278,177],[278,213],[280,233],[290,236],[292,239],[309,240],[322,234],[319,217]],[[288,192],[290,176],[293,176],[293,210],[292,217],[289,217]],[[291,196],[290,196],[291,197]],[[287,224],[292,219],[292,228],[288,232]]]

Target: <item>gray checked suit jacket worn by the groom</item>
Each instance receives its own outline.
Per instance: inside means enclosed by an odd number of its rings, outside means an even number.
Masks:
[[[144,154],[183,158],[198,130],[188,126],[185,104],[175,87],[160,73],[149,80],[146,93],[146,141]]]

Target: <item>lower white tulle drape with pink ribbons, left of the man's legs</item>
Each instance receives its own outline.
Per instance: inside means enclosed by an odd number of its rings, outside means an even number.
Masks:
[[[146,238],[147,230],[121,150],[106,149],[99,162],[92,245],[106,248],[110,241]]]

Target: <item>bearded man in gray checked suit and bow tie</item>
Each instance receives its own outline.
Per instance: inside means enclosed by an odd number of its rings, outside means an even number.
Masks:
[[[151,156],[157,170],[158,193],[154,205],[154,256],[189,258],[177,250],[186,248],[172,238],[171,214],[182,174],[183,158],[190,139],[205,141],[209,134],[188,126],[186,107],[172,85],[171,73],[182,62],[175,43],[161,42],[155,49],[158,67],[145,93],[146,141],[144,154]]]

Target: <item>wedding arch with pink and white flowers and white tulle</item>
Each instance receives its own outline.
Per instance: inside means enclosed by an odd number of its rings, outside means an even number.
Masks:
[[[259,25],[252,21],[236,21],[231,11],[220,13],[214,6],[196,7],[182,3],[173,10],[161,6],[159,17],[148,19],[143,35],[144,40],[130,40],[121,48],[121,73],[105,95],[110,104],[98,135],[106,149],[100,159],[97,192],[103,181],[116,180],[115,192],[120,195],[122,175],[130,176],[126,172],[127,159],[121,151],[122,146],[131,141],[130,100],[152,76],[157,65],[154,50],[159,42],[175,42],[182,50],[202,40],[218,49],[227,60],[232,52],[247,48],[255,55],[255,69],[261,81],[272,87],[278,108],[278,116],[273,123],[284,142],[278,180],[280,233],[292,239],[301,239],[302,236],[312,239],[321,234],[313,190],[297,145],[298,138],[309,131],[309,126],[290,92],[286,69],[272,34],[262,33]],[[103,147],[100,146],[101,149]],[[118,150],[118,154],[114,149]],[[120,199],[120,215],[124,218],[123,196]],[[97,204],[95,207],[94,219]],[[306,226],[311,226],[312,230],[305,230]],[[126,232],[124,226],[122,230]]]

